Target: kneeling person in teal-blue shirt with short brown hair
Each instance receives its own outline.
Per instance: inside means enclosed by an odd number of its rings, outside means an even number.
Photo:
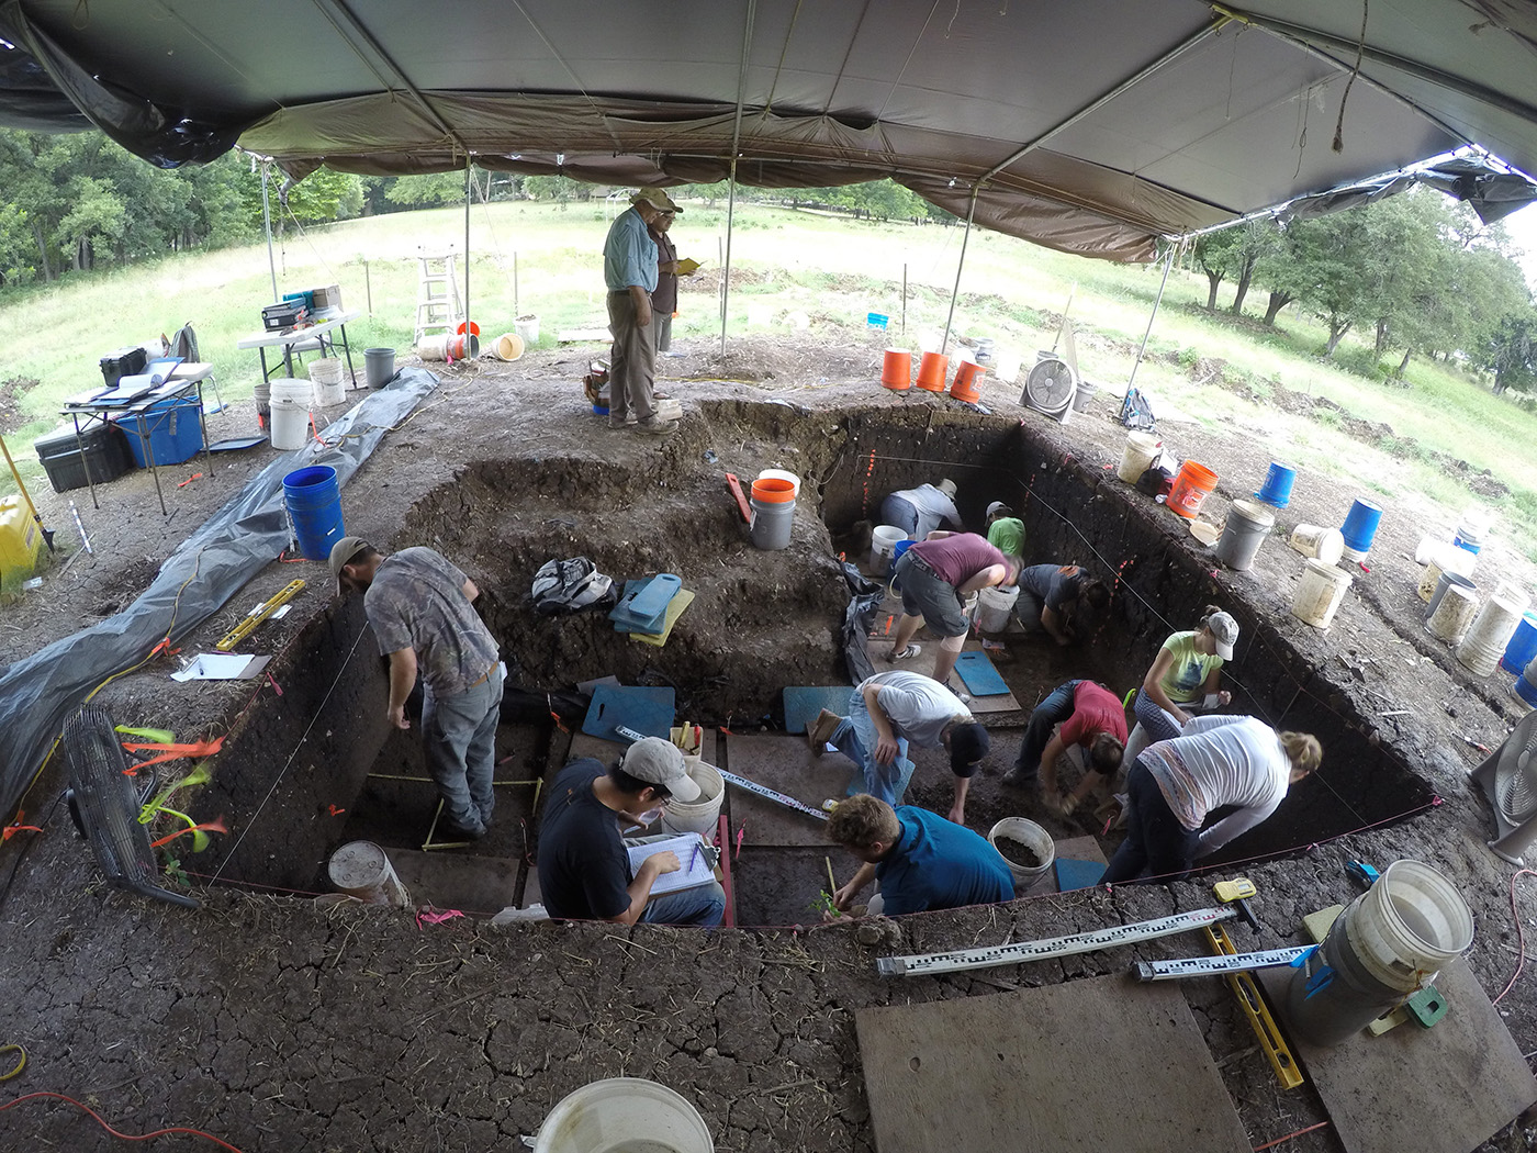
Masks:
[[[839,912],[847,912],[871,881],[881,882],[870,901],[871,916],[1014,899],[1014,878],[998,850],[927,809],[893,809],[875,796],[850,796],[828,818],[827,839],[864,861],[853,881],[833,893]]]

